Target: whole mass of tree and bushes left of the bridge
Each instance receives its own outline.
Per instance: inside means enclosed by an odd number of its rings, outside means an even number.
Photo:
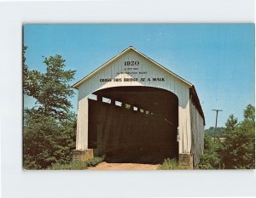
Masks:
[[[72,161],[75,148],[76,116],[68,100],[73,95],[69,83],[75,71],[65,71],[61,55],[44,59],[46,72],[26,65],[23,48],[23,93],[37,99],[38,106],[24,110],[23,167],[44,169]]]

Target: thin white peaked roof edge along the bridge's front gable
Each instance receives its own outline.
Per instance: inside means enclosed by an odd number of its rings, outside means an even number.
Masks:
[[[81,80],[79,80],[79,82],[76,82],[73,84],[73,88],[79,88],[79,85],[81,85],[83,82],[87,81],[90,77],[94,76],[98,71],[101,71],[103,68],[107,67],[108,65],[110,65],[111,63],[113,63],[113,61],[115,61],[116,59],[118,59],[120,56],[122,56],[123,54],[127,53],[128,51],[133,50],[134,52],[136,52],[137,54],[140,54],[141,56],[143,56],[145,59],[148,59],[148,61],[150,61],[151,63],[153,63],[154,65],[159,66],[162,70],[166,71],[167,73],[171,74],[172,76],[177,77],[179,80],[181,80],[182,82],[186,83],[187,85],[189,85],[189,87],[192,87],[193,84],[186,81],[185,79],[183,79],[181,76],[177,76],[177,74],[173,73],[172,71],[169,71],[166,67],[164,67],[163,65],[160,65],[159,63],[157,63],[156,61],[154,61],[154,59],[150,59],[147,55],[139,52],[136,48],[133,48],[132,46],[125,48],[125,50],[123,50],[122,52],[120,52],[119,54],[117,54],[116,56],[114,56],[112,59],[109,59],[106,63],[104,63],[103,65],[101,65],[100,67],[98,67],[95,71],[92,71],[89,75],[84,76],[84,78],[82,78]]]

